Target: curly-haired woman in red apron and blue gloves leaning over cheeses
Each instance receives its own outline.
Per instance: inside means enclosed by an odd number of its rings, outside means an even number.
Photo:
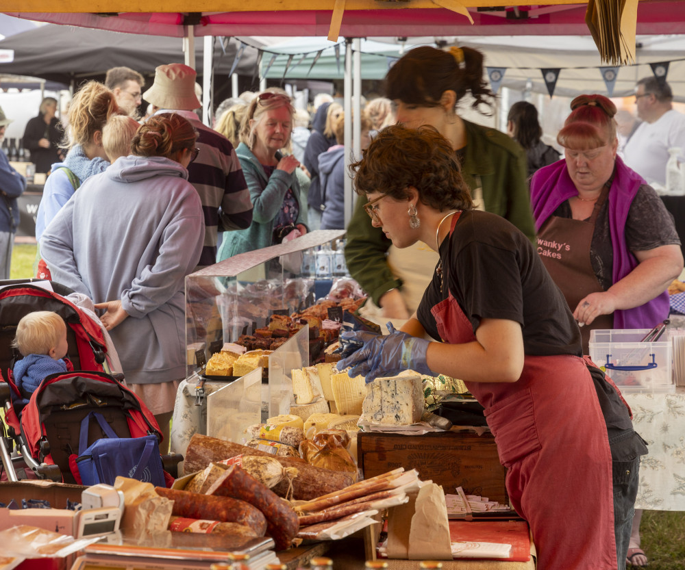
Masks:
[[[403,370],[462,378],[484,406],[538,569],[623,568],[616,546],[638,465],[617,463],[613,486],[609,434],[636,454],[644,445],[619,392],[582,359],[578,326],[533,244],[473,208],[453,147],[433,127],[386,127],[352,168],[373,226],[398,248],[427,244],[439,261],[401,332],[340,335],[362,346],[338,370],[366,382]]]

